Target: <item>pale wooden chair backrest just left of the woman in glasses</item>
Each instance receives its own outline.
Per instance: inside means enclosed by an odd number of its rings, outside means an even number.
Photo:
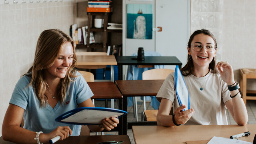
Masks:
[[[142,80],[165,80],[167,76],[175,72],[171,69],[152,69],[142,73]]]

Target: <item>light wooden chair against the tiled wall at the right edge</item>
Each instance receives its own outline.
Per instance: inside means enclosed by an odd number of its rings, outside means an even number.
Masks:
[[[256,91],[247,90],[246,88],[247,79],[256,79],[256,69],[240,69],[240,74],[240,90],[242,91],[244,104],[246,106],[246,100],[256,100],[255,96],[247,96],[247,93],[256,94]]]

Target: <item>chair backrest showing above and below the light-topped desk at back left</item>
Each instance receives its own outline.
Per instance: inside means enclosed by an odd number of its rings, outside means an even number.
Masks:
[[[107,56],[106,52],[76,52],[76,56]],[[102,69],[107,65],[76,65],[80,69]]]

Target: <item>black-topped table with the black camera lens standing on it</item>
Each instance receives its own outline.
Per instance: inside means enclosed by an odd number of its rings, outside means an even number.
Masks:
[[[181,68],[182,63],[175,56],[145,56],[144,61],[139,61],[134,58],[136,56],[118,56],[118,80],[123,80],[122,65],[179,65]]]

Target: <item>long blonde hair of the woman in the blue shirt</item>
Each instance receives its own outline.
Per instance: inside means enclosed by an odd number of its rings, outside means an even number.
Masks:
[[[40,101],[40,107],[46,106],[47,103],[44,93],[46,87],[48,87],[48,84],[44,77],[44,71],[54,64],[55,60],[58,58],[60,49],[63,48],[65,42],[70,42],[72,44],[74,55],[72,65],[70,65],[69,69],[67,70],[65,78],[60,79],[60,84],[57,87],[57,96],[59,97],[59,101],[62,105],[62,103],[64,103],[66,100],[70,81],[73,81],[72,78],[76,77],[76,43],[70,36],[68,36],[68,34],[65,34],[59,29],[49,29],[43,31],[40,34],[36,44],[36,53],[33,66],[26,74],[24,74],[31,77],[31,81],[28,86],[31,85],[34,88],[35,95]]]

